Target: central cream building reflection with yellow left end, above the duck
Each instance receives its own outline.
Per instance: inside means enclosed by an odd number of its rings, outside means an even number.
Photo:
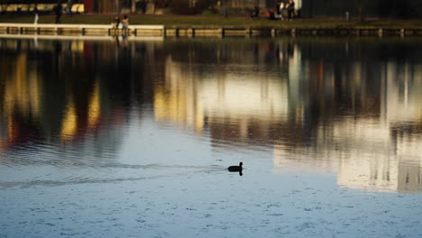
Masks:
[[[226,143],[245,142],[253,131],[268,140],[269,126],[286,122],[287,78],[263,71],[251,74],[256,66],[248,63],[210,67],[216,69],[200,73],[168,57],[165,81],[154,92],[156,121],[197,133],[208,129]]]

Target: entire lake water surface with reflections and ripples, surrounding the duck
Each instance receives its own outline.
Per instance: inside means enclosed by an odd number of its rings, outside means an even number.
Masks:
[[[421,55],[0,39],[0,237],[420,237]]]

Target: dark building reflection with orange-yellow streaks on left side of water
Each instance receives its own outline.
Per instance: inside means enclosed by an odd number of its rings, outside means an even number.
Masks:
[[[161,57],[145,68],[134,56],[154,59],[161,44],[0,39],[0,151],[38,143],[115,149],[131,106],[149,100],[138,94],[151,88],[142,78],[162,70]]]

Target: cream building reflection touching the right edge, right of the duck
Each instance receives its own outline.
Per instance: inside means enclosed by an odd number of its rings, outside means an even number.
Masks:
[[[421,191],[422,73],[416,68],[393,62],[383,66],[379,113],[363,110],[335,118],[316,130],[311,146],[292,149],[283,140],[276,142],[276,168],[290,165],[335,171],[337,184],[345,188]],[[361,67],[354,70],[358,77],[352,78],[366,80]],[[325,75],[328,80],[331,77]],[[358,80],[353,81],[356,88],[362,88]]]

